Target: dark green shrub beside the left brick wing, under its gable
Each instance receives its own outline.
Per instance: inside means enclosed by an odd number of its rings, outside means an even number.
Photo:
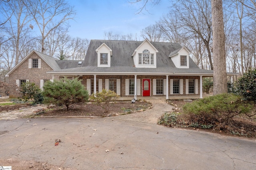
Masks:
[[[32,104],[41,104],[43,102],[41,89],[34,82],[22,83],[20,93],[25,102],[30,100],[33,102]]]

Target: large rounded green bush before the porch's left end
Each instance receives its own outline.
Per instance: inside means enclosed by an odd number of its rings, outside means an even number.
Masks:
[[[87,102],[89,98],[87,90],[78,78],[47,81],[44,84],[43,96],[45,103],[65,105],[67,110],[71,104]]]

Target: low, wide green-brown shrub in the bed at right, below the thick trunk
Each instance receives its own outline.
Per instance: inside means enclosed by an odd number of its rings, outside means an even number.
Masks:
[[[227,129],[233,126],[234,116],[250,113],[253,106],[254,104],[242,100],[241,96],[218,94],[185,104],[183,112],[190,125],[198,123],[199,126]]]

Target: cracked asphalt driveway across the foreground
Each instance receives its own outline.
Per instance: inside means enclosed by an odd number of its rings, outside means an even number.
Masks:
[[[1,120],[0,159],[74,170],[256,169],[256,140],[120,117]]]

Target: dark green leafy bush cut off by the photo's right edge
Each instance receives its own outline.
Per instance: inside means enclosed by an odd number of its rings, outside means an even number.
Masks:
[[[256,101],[256,69],[244,73],[234,86],[233,93],[243,96],[245,100]]]

